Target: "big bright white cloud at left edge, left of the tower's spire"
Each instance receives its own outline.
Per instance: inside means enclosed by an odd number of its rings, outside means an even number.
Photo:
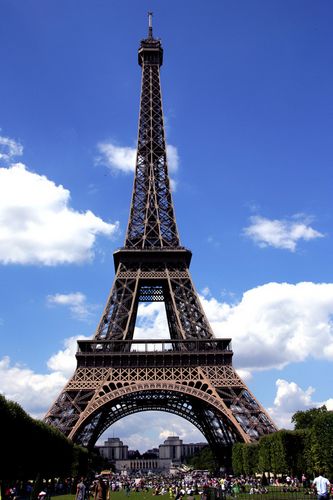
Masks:
[[[99,234],[112,236],[90,210],[70,205],[70,192],[22,163],[0,168],[0,262],[56,265],[90,260]]]

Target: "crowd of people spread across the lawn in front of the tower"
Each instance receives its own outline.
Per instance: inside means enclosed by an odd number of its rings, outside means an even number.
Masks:
[[[285,476],[278,478],[261,477],[212,477],[209,474],[187,473],[181,475],[141,475],[123,474],[97,475],[93,479],[56,480],[44,483],[38,500],[50,497],[75,494],[75,500],[112,500],[113,493],[123,491],[125,496],[135,497],[137,493],[150,493],[152,496],[165,496],[166,500],[224,500],[237,499],[240,494],[265,495],[268,492],[301,493],[295,495],[315,496],[326,500],[333,496],[333,486],[324,476],[310,481],[304,474],[301,478]],[[3,500],[28,500],[33,492],[30,482],[18,483],[8,487]],[[149,496],[150,496],[149,495]]]

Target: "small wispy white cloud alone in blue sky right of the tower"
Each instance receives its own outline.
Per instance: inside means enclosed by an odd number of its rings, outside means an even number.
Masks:
[[[311,218],[297,215],[294,220],[270,220],[250,217],[251,224],[243,232],[260,247],[272,246],[295,252],[299,240],[313,240],[324,235],[310,226]]]

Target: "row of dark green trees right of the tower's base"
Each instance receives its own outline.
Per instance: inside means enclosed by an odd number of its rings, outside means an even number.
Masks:
[[[333,477],[333,412],[326,406],[298,411],[292,422],[294,431],[280,430],[257,443],[236,443],[232,449],[234,474],[312,477],[322,471]]]

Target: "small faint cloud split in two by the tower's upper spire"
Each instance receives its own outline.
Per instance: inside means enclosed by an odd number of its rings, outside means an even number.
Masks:
[[[130,173],[135,170],[136,149],[129,146],[117,146],[113,142],[100,142],[97,145],[100,156],[97,163],[106,165],[117,172]],[[170,173],[178,170],[179,155],[177,148],[169,144],[167,146],[168,166]]]

